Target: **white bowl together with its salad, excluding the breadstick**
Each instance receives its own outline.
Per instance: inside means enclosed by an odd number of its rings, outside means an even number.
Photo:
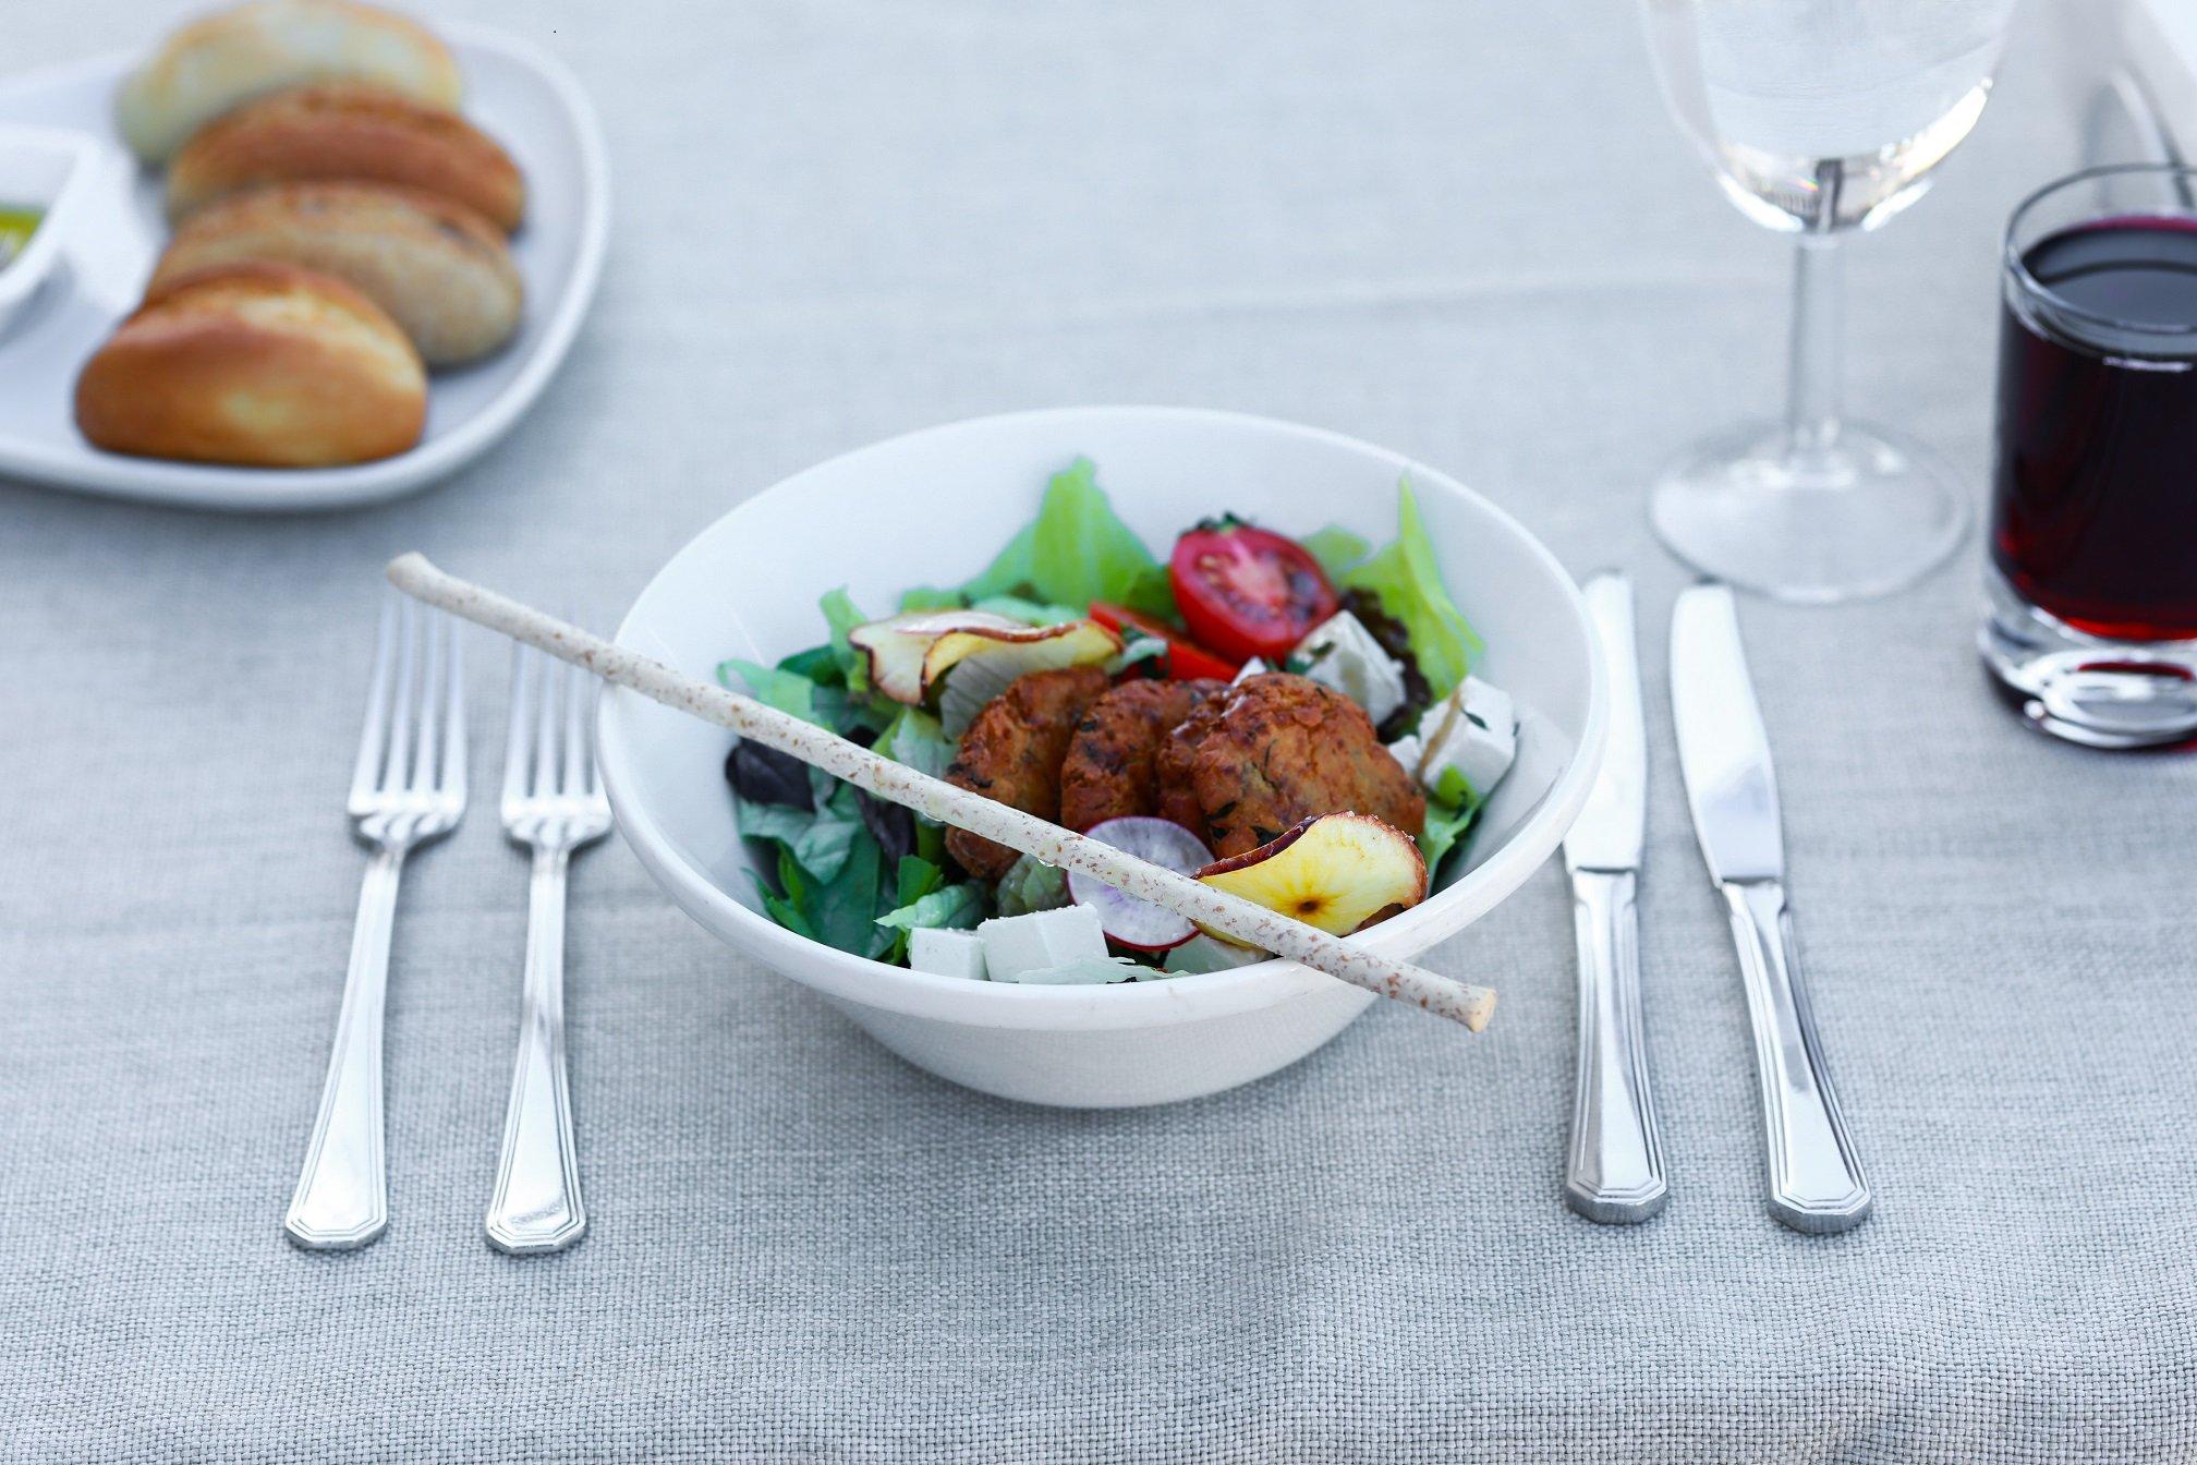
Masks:
[[[1197,409],[980,417],[806,468],[688,540],[617,641],[1404,960],[1555,852],[1606,716],[1580,593],[1514,518],[1399,452]],[[1013,694],[1037,672],[1063,676]],[[600,723],[620,835],[666,894],[956,1083],[1169,1103],[1373,1002],[956,852],[635,692]],[[727,975],[747,1002],[754,969]]]

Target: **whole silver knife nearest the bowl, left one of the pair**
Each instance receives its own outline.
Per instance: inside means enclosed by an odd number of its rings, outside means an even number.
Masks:
[[[1610,742],[1586,810],[1564,837],[1580,936],[1580,1056],[1571,1094],[1564,1201],[1588,1221],[1626,1226],[1663,1210],[1663,1147],[1641,1041],[1635,881],[1648,817],[1648,731],[1632,644],[1632,582],[1599,573],[1586,608],[1610,683]]]

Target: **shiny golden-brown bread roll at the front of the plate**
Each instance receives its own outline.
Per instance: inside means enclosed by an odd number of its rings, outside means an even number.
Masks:
[[[404,452],[424,424],[426,369],[395,321],[286,264],[171,279],[77,376],[77,426],[136,457],[330,468]]]

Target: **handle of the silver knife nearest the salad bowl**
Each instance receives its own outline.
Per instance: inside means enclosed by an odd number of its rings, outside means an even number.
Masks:
[[[1630,1226],[1670,1199],[1641,1041],[1632,872],[1575,870],[1571,914],[1580,933],[1580,1059],[1564,1201],[1588,1221]]]

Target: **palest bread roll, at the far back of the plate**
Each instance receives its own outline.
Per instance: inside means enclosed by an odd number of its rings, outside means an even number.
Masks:
[[[373,81],[457,108],[457,59],[428,31],[352,0],[253,0],[193,20],[114,94],[114,121],[147,163],[167,163],[222,112],[286,86]]]

